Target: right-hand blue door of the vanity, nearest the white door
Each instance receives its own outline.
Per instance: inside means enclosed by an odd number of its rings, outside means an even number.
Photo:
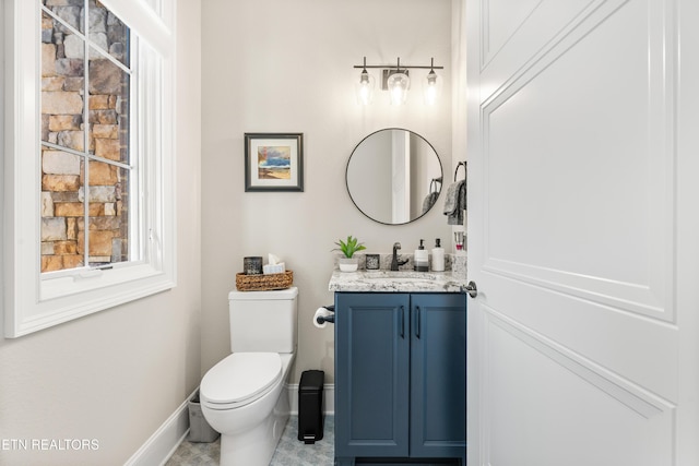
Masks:
[[[412,295],[411,302],[411,456],[465,458],[465,295]]]

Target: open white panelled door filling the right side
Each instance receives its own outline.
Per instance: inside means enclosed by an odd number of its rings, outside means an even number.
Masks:
[[[699,465],[699,2],[465,21],[469,465]]]

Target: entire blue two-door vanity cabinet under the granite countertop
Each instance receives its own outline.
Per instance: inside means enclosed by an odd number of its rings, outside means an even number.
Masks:
[[[465,306],[462,294],[335,294],[339,466],[465,465]]]

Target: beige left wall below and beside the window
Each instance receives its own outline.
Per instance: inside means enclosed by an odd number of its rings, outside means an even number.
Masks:
[[[0,465],[121,465],[201,372],[200,1],[178,1],[178,286],[0,339],[0,439],[96,439],[81,452],[0,451]]]

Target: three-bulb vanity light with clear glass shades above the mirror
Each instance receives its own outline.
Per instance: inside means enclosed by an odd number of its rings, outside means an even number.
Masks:
[[[407,91],[410,89],[411,79],[408,75],[408,69],[423,69],[429,70],[429,73],[423,82],[425,101],[428,105],[434,105],[441,92],[441,76],[435,73],[435,70],[443,70],[445,67],[435,67],[435,59],[431,59],[429,65],[410,65],[401,64],[401,58],[398,58],[396,65],[393,64],[367,64],[367,58],[364,57],[364,64],[355,64],[354,68],[362,69],[359,74],[359,81],[355,83],[355,92],[357,101],[360,105],[368,105],[371,103],[374,96],[374,76],[369,74],[369,69],[382,69],[381,88],[389,92],[391,105],[403,105],[407,98]]]

